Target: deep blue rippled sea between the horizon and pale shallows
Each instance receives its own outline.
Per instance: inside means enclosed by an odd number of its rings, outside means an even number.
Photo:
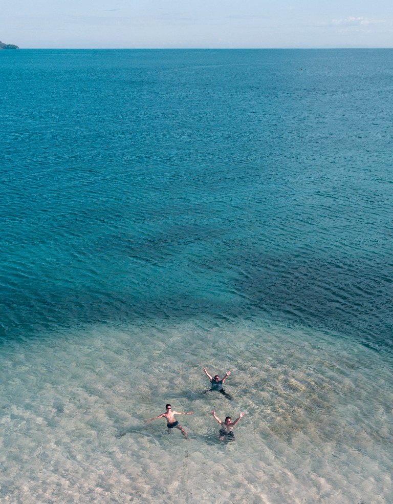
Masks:
[[[0,53],[3,341],[284,320],[391,354],[392,50]]]

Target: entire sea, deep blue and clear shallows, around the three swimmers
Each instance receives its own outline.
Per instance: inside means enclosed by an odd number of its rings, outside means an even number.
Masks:
[[[0,500],[391,500],[392,55],[0,54]]]

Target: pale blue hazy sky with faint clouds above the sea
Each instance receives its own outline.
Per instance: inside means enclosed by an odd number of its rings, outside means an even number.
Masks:
[[[393,47],[391,0],[13,0],[20,48]]]

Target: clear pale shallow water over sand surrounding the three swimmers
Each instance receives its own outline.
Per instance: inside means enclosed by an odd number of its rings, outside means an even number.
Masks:
[[[388,359],[326,332],[250,319],[95,326],[5,343],[1,502],[384,504]],[[230,369],[226,391],[203,394]],[[193,415],[169,431],[170,402]],[[222,419],[245,417],[235,442]]]

